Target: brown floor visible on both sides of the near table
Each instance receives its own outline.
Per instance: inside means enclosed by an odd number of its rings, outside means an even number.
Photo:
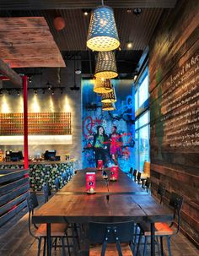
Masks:
[[[41,201],[41,204],[43,203],[41,199],[39,201]],[[8,221],[6,225],[0,228],[0,256],[37,255],[37,240],[30,236],[28,230],[28,214],[26,212],[26,209],[23,210],[12,221]],[[171,238],[171,252],[172,256],[199,255],[199,250],[181,233]],[[61,249],[57,248],[56,251],[53,249],[52,255],[62,255]],[[140,248],[139,255],[143,255],[143,246]],[[150,255],[149,248],[148,255]],[[156,251],[156,255],[160,255],[158,251]],[[166,244],[164,244],[164,255],[168,255]]]

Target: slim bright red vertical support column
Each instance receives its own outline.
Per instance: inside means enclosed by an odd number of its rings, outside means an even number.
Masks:
[[[29,168],[29,145],[28,145],[28,78],[23,76],[24,90],[24,169]]]

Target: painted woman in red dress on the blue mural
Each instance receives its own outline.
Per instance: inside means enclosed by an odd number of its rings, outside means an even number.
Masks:
[[[117,133],[115,125],[111,128],[110,133],[110,155],[112,160],[117,164],[118,156],[121,155],[121,134]]]

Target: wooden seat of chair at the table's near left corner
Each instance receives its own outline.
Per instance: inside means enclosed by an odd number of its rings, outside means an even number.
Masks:
[[[51,237],[65,237],[67,224],[52,223],[51,224]],[[41,224],[35,234],[37,237],[46,237],[46,224]]]

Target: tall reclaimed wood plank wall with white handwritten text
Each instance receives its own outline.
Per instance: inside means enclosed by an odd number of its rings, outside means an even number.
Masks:
[[[153,193],[184,197],[181,230],[199,246],[199,2],[164,11],[149,49]]]

